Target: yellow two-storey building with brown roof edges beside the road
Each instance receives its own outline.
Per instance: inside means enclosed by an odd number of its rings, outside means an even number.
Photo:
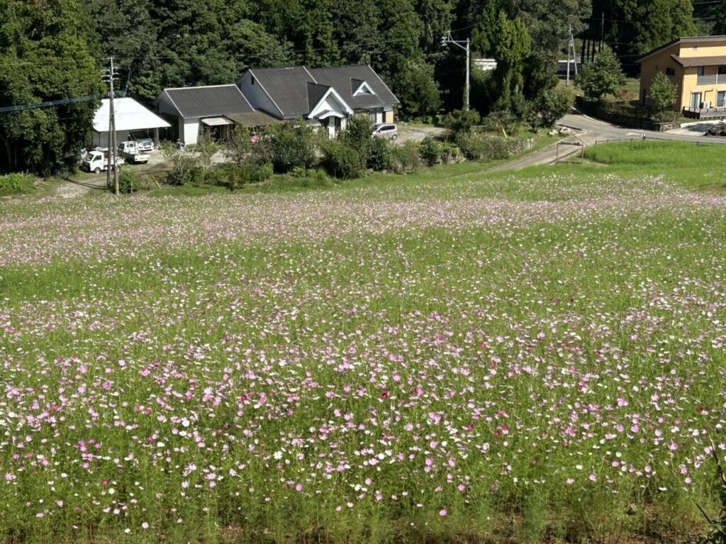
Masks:
[[[646,53],[640,62],[640,103],[663,72],[678,88],[674,110],[686,117],[726,115],[726,36],[678,38]]]

